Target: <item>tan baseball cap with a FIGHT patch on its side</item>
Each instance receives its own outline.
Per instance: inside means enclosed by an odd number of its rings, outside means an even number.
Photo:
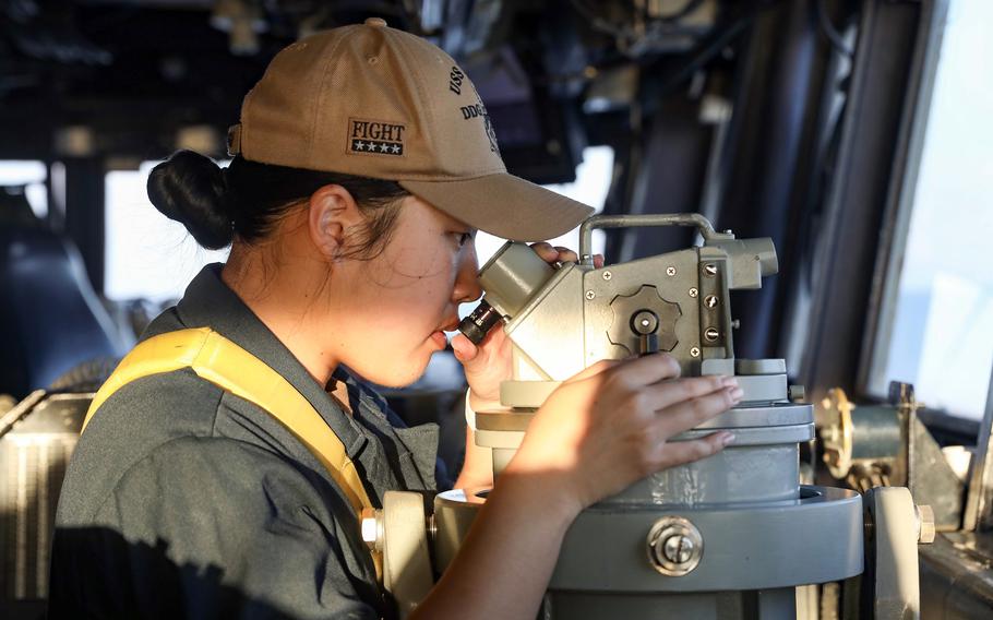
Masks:
[[[519,241],[557,237],[593,214],[509,175],[486,107],[458,64],[378,17],[276,55],[244,97],[228,152],[394,180],[470,226]]]

